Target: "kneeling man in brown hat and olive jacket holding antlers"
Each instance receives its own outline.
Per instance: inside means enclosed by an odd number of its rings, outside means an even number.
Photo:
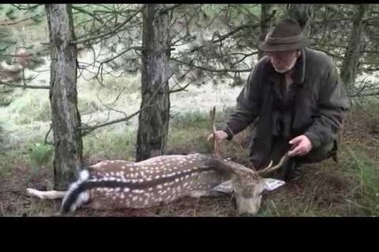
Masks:
[[[288,152],[291,158],[283,169],[287,182],[298,179],[300,164],[331,157],[349,109],[333,61],[308,44],[296,20],[279,21],[259,44],[267,56],[249,75],[234,114],[215,133],[219,141],[232,140],[257,118],[249,159],[261,169]]]

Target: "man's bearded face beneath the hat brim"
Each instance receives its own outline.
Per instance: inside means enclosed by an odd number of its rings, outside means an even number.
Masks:
[[[294,67],[300,51],[266,52],[266,54],[276,72],[285,73]]]

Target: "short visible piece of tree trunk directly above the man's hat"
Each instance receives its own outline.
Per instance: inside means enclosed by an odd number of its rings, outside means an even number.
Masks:
[[[312,13],[313,6],[312,4],[288,4],[287,13],[288,15],[296,19],[301,29],[303,30],[304,36],[310,36],[311,34],[311,19],[313,16]]]

